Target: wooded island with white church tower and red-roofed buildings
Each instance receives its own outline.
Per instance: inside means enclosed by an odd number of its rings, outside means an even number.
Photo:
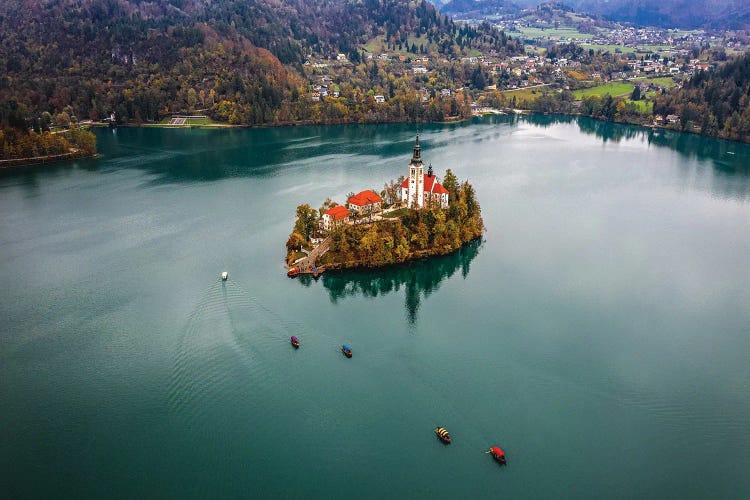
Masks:
[[[350,193],[339,205],[297,207],[286,242],[288,275],[324,270],[378,268],[455,252],[482,236],[484,223],[474,187],[447,169],[442,182],[432,165],[425,173],[417,135],[407,176],[380,193]]]

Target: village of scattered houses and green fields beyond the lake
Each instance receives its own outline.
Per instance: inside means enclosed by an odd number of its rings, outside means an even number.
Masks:
[[[434,121],[513,110],[545,111],[535,109],[534,101],[550,92],[571,92],[578,103],[594,95],[611,95],[634,104],[641,116],[630,121],[670,126],[679,117],[670,120],[654,114],[653,97],[680,88],[697,72],[715,68],[750,43],[744,32],[593,25],[590,19],[575,19],[578,24],[567,26],[534,17],[461,20],[468,25],[492,23],[522,42],[522,54],[472,49],[451,55],[431,50],[420,38],[407,38],[403,47],[370,42],[357,60],[343,53],[327,59],[310,55],[304,63],[308,95],[313,102],[330,106],[351,108],[359,103],[377,115],[387,113],[391,100],[404,100],[408,88],[422,105],[439,109],[428,114]],[[358,65],[390,75],[388,83],[358,86],[350,78]]]

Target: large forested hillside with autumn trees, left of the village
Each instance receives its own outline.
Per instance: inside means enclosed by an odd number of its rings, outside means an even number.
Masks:
[[[353,110],[368,90],[398,94],[397,82],[365,64],[369,40],[451,58],[480,47],[519,50],[488,25],[458,27],[423,0],[1,2],[0,36],[0,101],[26,106],[29,118],[114,112],[120,123],[175,112],[248,125],[364,120],[366,110]],[[358,90],[346,101],[311,102],[315,72],[303,63],[338,54]],[[407,108],[378,119],[415,118]]]

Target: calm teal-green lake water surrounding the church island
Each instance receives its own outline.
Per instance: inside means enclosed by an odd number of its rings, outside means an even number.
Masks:
[[[425,126],[484,241],[286,278],[295,207],[404,174],[413,130],[99,130],[1,173],[0,496],[750,496],[750,147]]]

